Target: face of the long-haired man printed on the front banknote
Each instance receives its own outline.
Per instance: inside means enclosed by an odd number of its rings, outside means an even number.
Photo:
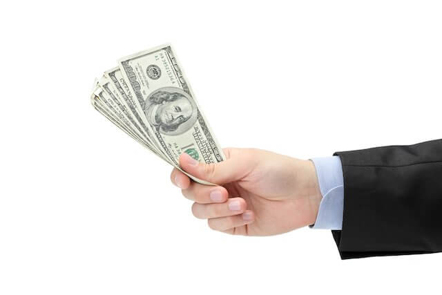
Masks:
[[[185,121],[192,115],[192,104],[186,97],[180,97],[173,102],[163,102],[157,111],[157,122],[174,125]]]

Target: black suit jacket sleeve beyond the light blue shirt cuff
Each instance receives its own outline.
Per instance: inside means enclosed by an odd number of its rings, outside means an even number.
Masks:
[[[338,152],[344,175],[340,257],[442,251],[442,140]]]

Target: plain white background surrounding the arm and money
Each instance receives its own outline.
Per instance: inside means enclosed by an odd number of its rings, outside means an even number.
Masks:
[[[329,231],[211,231],[90,106],[117,58],[171,42],[222,146],[441,138],[438,1],[258,2],[2,4],[0,294],[440,291],[442,254],[343,261]]]

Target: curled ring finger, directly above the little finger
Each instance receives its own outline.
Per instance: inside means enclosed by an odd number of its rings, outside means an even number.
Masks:
[[[199,204],[193,203],[192,213],[196,218],[218,218],[225,216],[233,216],[244,213],[247,204],[243,198],[231,198],[227,202],[220,204]]]

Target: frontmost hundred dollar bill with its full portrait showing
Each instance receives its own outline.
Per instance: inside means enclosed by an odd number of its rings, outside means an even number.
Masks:
[[[135,112],[174,166],[181,153],[205,163],[225,160],[170,45],[124,57],[119,68]]]

